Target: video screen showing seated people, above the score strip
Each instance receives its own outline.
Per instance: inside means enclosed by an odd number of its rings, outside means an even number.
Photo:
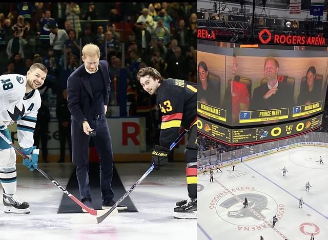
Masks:
[[[323,112],[328,52],[210,46],[198,50],[198,115],[228,126]]]

